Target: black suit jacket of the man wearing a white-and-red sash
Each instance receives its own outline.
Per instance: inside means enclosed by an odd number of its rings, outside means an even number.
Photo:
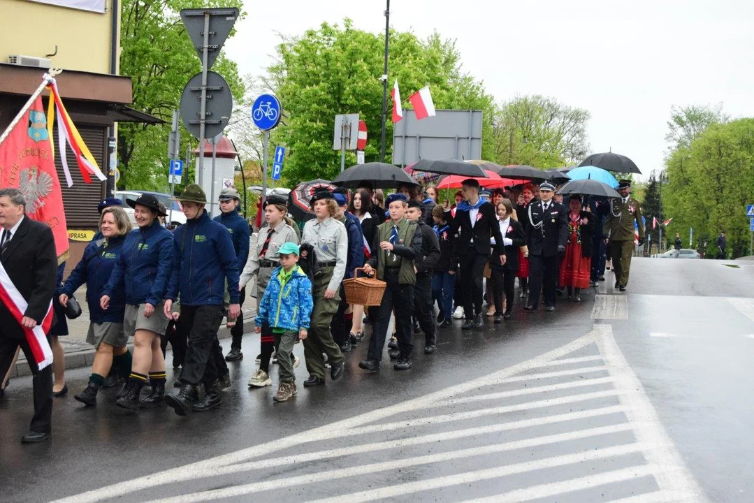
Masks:
[[[57,287],[57,254],[52,231],[24,216],[16,234],[0,253],[5,271],[29,306],[24,316],[38,324],[44,320]],[[0,337],[25,339],[23,328],[0,302]]]

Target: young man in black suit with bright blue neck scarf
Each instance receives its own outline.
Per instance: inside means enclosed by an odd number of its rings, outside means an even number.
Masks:
[[[446,221],[452,232],[458,235],[455,246],[461,265],[461,296],[466,317],[462,328],[469,330],[482,327],[482,281],[484,264],[489,259],[490,238],[495,238],[495,255],[504,256],[505,251],[495,207],[480,198],[479,182],[465,179],[461,190],[464,201],[455,207],[455,216],[448,201],[445,201],[444,208]]]

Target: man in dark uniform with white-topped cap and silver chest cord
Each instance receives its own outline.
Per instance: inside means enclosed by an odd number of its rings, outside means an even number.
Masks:
[[[544,182],[539,186],[539,201],[532,201],[523,218],[529,219],[526,229],[529,245],[529,302],[525,311],[535,311],[539,306],[539,293],[544,285],[544,305],[555,311],[558,269],[566,255],[568,241],[568,212],[562,204],[553,201],[555,187]]]

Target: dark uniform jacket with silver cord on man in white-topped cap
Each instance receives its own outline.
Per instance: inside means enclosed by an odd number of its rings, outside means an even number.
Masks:
[[[523,218],[529,219],[529,228],[526,229],[529,256],[556,256],[558,247],[566,246],[568,210],[562,204],[550,201],[545,214],[542,212],[541,201],[532,200]]]

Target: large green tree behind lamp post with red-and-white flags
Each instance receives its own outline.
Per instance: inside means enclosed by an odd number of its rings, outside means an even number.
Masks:
[[[391,32],[390,40],[389,84],[397,79],[404,100],[429,85],[437,109],[482,109],[483,135],[491,130],[493,99],[461,71],[454,41],[437,33],[421,40],[409,32]],[[336,114],[360,114],[369,128],[366,161],[379,161],[384,43],[382,35],[354,29],[346,19],[342,26],[323,23],[303,35],[283,37],[277,46],[277,62],[264,84],[284,104],[285,125],[274,130],[271,143],[287,146],[284,177],[290,185],[339,173],[340,152],[333,151]],[[392,134],[388,109],[388,162]],[[355,161],[348,152],[346,165]]]

